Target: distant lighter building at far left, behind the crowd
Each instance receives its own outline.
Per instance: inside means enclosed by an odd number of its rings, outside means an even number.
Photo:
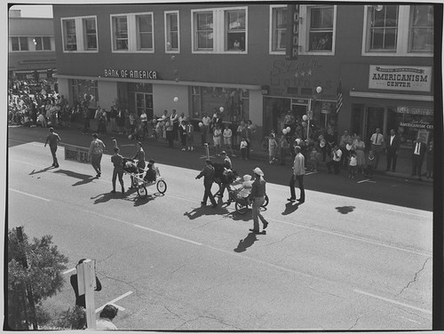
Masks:
[[[9,11],[8,76],[39,79],[56,70],[52,19],[24,18],[20,10]]]

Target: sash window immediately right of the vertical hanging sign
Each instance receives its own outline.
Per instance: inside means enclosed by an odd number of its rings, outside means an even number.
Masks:
[[[309,51],[333,50],[333,7],[310,8]]]

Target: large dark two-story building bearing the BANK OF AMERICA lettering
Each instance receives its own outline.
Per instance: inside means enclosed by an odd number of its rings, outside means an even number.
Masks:
[[[366,141],[376,127],[395,129],[409,147],[432,138],[437,12],[440,4],[54,4],[59,91],[149,117],[175,108],[201,119],[224,107],[226,121],[256,123],[258,138],[281,131],[291,110]]]

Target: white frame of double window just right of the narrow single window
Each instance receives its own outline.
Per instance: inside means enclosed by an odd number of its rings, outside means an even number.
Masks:
[[[244,11],[245,12],[245,49],[244,50],[226,50],[227,27],[226,12]],[[210,12],[213,16],[213,47],[212,49],[197,49],[197,20],[196,15],[202,12]],[[191,10],[191,52],[200,54],[248,54],[249,42],[249,8],[248,6],[232,6],[223,8],[200,8]]]

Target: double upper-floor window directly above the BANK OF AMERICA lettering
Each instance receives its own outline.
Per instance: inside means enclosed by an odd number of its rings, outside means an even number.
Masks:
[[[114,52],[154,52],[153,13],[111,16]]]

